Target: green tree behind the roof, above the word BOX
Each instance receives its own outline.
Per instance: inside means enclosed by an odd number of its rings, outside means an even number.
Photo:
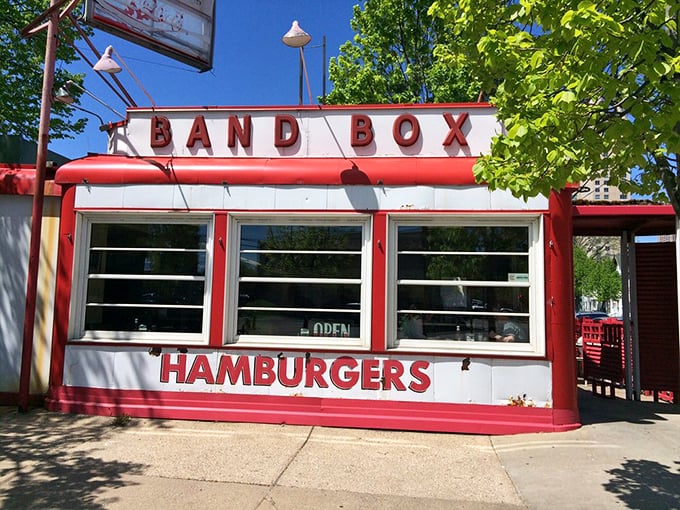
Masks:
[[[473,101],[480,87],[463,67],[435,58],[452,30],[428,14],[432,0],[366,0],[354,6],[353,41],[329,64],[328,104]]]

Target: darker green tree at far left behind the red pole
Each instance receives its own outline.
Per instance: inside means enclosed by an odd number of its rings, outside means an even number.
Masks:
[[[20,30],[48,5],[45,0],[9,0],[0,9],[0,136],[38,139],[46,31],[22,38]],[[78,33],[67,20],[62,20],[59,31],[55,86],[67,80],[82,82],[82,75],[71,74],[65,67],[77,60],[75,50],[67,42],[77,40]],[[55,101],[50,137],[73,138],[81,133],[86,120],[77,117],[76,110]]]

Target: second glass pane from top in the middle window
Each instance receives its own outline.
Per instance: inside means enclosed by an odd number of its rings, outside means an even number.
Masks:
[[[242,253],[241,276],[360,278],[361,255]]]

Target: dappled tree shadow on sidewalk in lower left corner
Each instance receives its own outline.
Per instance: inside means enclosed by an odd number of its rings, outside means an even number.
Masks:
[[[0,416],[0,507],[105,508],[101,492],[131,485],[145,466],[103,461],[112,422],[43,410]]]

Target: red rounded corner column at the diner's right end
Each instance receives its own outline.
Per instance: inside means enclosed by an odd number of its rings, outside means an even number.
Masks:
[[[547,308],[550,318],[547,333],[552,343],[553,408],[560,419],[577,422],[576,345],[574,342],[573,229],[571,191],[553,191],[549,199],[550,257],[547,279]]]

